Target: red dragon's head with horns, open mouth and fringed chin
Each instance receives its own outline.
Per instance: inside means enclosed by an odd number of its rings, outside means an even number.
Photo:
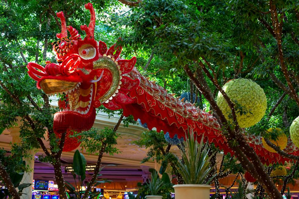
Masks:
[[[91,17],[88,26],[81,26],[86,33],[84,39],[75,28],[66,25],[63,12],[58,12],[61,33],[56,35],[58,41],[52,43],[57,63],[46,61],[45,67],[32,62],[27,65],[28,74],[37,81],[39,89],[49,95],[65,96],[59,101],[60,111],[54,115],[55,133],[90,129],[95,108],[103,104],[117,110],[132,103],[128,91],[139,85],[139,80],[125,75],[135,66],[136,58],[119,59],[121,46],[114,44],[107,50],[103,41],[95,41],[95,11],[91,3],[85,8]]]

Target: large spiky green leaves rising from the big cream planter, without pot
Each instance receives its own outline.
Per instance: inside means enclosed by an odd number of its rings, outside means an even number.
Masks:
[[[189,133],[189,131],[188,131]],[[186,135],[187,138],[187,135]],[[215,165],[210,164],[212,155],[208,155],[209,147],[207,143],[204,145],[203,138],[200,143],[194,138],[194,134],[191,131],[189,137],[185,142],[186,149],[182,148],[181,155],[182,160],[178,158],[178,172],[182,175],[186,184],[209,184],[215,177],[212,176],[206,181],[207,176],[214,168]]]

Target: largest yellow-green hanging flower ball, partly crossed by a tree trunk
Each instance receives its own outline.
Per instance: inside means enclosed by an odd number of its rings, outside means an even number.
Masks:
[[[224,84],[222,87],[233,103],[245,107],[246,114],[240,114],[236,110],[237,121],[241,128],[247,128],[258,123],[265,115],[267,99],[264,90],[254,81],[249,79],[235,79]],[[221,109],[225,118],[229,119],[232,110],[229,108],[220,92],[217,95],[217,105]]]

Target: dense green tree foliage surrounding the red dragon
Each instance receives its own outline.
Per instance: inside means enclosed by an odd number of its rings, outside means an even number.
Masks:
[[[175,97],[193,89],[200,98],[199,105],[207,108],[207,111],[213,110],[215,114],[214,107],[209,103],[211,100],[190,84],[190,76],[182,67],[189,66],[190,70],[198,72],[196,77],[199,77],[203,74],[200,61],[220,87],[230,79],[242,77],[254,80],[264,89],[268,105],[266,114],[258,124],[245,129],[245,135],[275,139],[275,131],[265,135],[265,130],[276,127],[288,136],[290,123],[299,112],[298,102],[290,89],[290,83],[297,91],[299,87],[298,0],[143,0],[129,7],[116,0],[90,2],[95,7],[97,17],[95,38],[110,45],[122,37],[123,58],[137,56],[138,70],[169,92],[176,93]],[[49,98],[36,89],[25,66],[30,61],[41,65],[44,65],[45,60],[55,62],[54,55],[50,53],[50,44],[56,40],[56,33],[60,32],[55,12],[63,11],[67,24],[79,30],[78,27],[89,20],[83,4],[82,0],[0,2],[0,129],[15,126],[17,119],[22,121],[22,142],[16,146],[22,150],[15,150],[14,153],[12,150],[11,155],[15,158],[9,158],[5,151],[1,152],[1,163],[8,170],[13,169],[8,167],[11,163],[16,165],[17,170],[26,170],[17,162],[26,151],[39,148],[41,140],[47,140],[44,137],[45,129],[50,133],[52,154],[61,155],[57,144],[60,140],[51,134],[53,113],[57,109],[51,107]],[[279,23],[282,25],[281,39],[277,37],[280,34],[273,34],[275,26],[269,11],[270,5],[272,10],[273,5],[278,10]],[[79,34],[82,34],[80,30]],[[280,56],[279,52],[283,52],[283,55]],[[285,68],[290,81],[283,73],[282,69]],[[199,79],[203,80],[201,84],[207,84],[205,86],[210,89],[211,96],[215,97],[218,88],[211,79],[206,75]],[[125,121],[128,124],[132,118],[128,117]],[[148,148],[155,147],[154,137],[161,141],[158,143],[164,148],[167,147],[160,136],[162,134],[151,133],[146,137],[150,141]],[[87,137],[89,135],[92,133],[84,134]],[[146,133],[142,139],[145,136]],[[140,141],[140,145],[146,144]],[[159,147],[149,149],[144,161],[155,155],[163,160],[164,156],[159,150]],[[43,156],[40,160],[55,163],[52,156]],[[225,156],[223,162],[223,165],[229,165],[236,160]],[[292,168],[297,170],[295,166],[292,165]],[[228,170],[224,168],[225,173]],[[232,170],[230,172],[235,173],[242,168],[234,167]]]

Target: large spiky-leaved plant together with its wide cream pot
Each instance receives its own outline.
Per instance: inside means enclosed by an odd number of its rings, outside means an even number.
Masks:
[[[215,177],[208,179],[208,175],[215,165],[210,165],[212,155],[208,155],[209,148],[207,143],[203,144],[203,138],[200,143],[194,138],[193,132],[186,136],[186,149],[182,148],[181,155],[183,162],[178,158],[178,172],[182,175],[186,184],[173,186],[175,189],[175,199],[186,198],[210,198],[209,183]],[[200,197],[199,197],[200,196]]]

